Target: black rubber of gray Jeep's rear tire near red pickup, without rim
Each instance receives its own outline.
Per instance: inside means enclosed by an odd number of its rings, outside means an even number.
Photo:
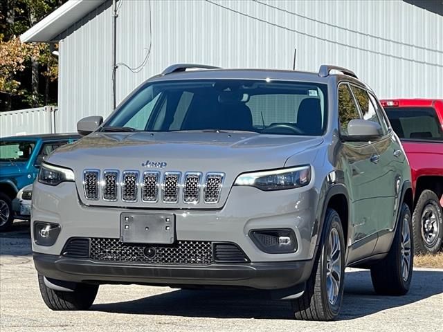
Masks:
[[[402,237],[405,226],[409,229],[409,257],[410,264],[406,278],[403,277]],[[401,205],[397,230],[388,255],[371,267],[371,279],[375,292],[379,295],[405,295],[409,291],[413,277],[414,242],[412,239],[412,217],[408,205]]]

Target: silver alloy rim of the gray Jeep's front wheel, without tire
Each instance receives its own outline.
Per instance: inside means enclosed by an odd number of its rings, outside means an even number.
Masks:
[[[341,246],[336,228],[329,233],[326,248],[326,289],[330,304],[335,304],[341,283]]]

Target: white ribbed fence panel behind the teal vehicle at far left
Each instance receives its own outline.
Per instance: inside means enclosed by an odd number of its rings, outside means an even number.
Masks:
[[[0,113],[0,137],[55,133],[57,107],[45,106]]]

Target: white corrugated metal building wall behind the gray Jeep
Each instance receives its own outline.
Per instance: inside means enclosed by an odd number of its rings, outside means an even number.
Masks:
[[[151,10],[150,10],[151,9]],[[152,36],[150,35],[152,17]],[[60,130],[111,111],[111,1],[60,43]],[[152,38],[152,39],[151,39]],[[176,62],[223,67],[349,67],[379,98],[443,98],[443,17],[404,1],[120,1],[121,101]]]

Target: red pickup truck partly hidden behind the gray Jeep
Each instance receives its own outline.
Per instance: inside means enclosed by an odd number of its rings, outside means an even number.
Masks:
[[[381,100],[410,163],[416,253],[435,253],[443,239],[443,100]]]

